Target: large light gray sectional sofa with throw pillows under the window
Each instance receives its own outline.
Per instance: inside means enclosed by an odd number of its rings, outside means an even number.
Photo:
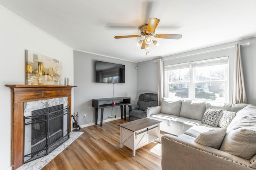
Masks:
[[[147,109],[162,121],[163,170],[256,169],[256,106],[162,99]]]

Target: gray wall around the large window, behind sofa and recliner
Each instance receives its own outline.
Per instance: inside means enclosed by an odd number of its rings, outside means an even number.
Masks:
[[[162,57],[164,59],[164,65],[170,64],[178,64],[189,61],[198,61],[204,59],[211,59],[216,57],[224,57],[229,56],[229,101],[231,102],[231,94],[232,94],[232,82],[233,82],[233,74],[234,74],[234,45],[236,43],[247,43],[250,42],[251,45],[243,45],[241,46],[241,55],[242,55],[242,64],[244,70],[244,81],[245,88],[247,94],[247,100],[249,104],[256,105],[256,38],[244,39],[241,41],[236,41],[232,43],[226,43],[222,45],[216,45],[212,47],[207,47],[204,49],[198,49],[194,51],[189,51],[186,53],[180,53],[177,55],[170,55],[167,57]],[[232,48],[227,48],[232,47]],[[227,49],[223,49],[227,48]],[[222,49],[222,50],[218,50]],[[216,50],[216,51],[214,51]],[[206,51],[212,51],[203,53]],[[197,54],[202,53],[202,54]],[[192,55],[197,54],[197,55]],[[184,57],[190,55],[188,57]],[[180,58],[179,58],[180,57]],[[176,58],[176,59],[175,59]],[[157,92],[157,62],[154,60],[144,61],[137,63],[138,71],[137,71],[137,90],[138,92],[146,92],[152,91]]]

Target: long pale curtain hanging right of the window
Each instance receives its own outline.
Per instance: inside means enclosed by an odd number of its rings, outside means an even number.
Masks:
[[[236,103],[247,103],[246,92],[244,87],[244,74],[242,68],[240,44],[235,45],[234,56],[234,81],[232,89],[232,104]]]

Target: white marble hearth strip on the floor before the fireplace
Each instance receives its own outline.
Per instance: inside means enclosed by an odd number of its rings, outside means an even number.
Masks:
[[[40,170],[42,169],[46,164],[48,164],[52,159],[55,158],[60,152],[62,152],[66,147],[68,147],[72,142],[74,142],[80,135],[82,135],[84,132],[75,132],[71,131],[69,135],[69,139],[64,142],[62,145],[60,145],[58,148],[56,148],[54,151],[52,151],[50,154],[38,158],[36,160],[33,160],[31,162],[28,162],[26,164],[23,164],[16,170]]]

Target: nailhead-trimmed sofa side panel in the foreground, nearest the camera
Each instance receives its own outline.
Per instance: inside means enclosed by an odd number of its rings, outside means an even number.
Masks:
[[[162,170],[246,170],[250,160],[173,135],[162,136]]]

